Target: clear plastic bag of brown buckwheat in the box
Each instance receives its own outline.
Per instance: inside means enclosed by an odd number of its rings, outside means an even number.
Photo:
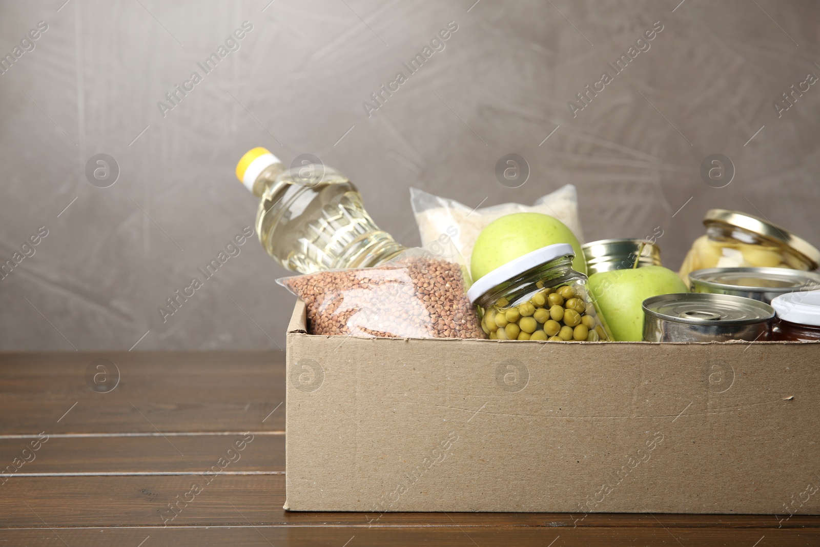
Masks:
[[[486,338],[467,299],[470,278],[449,243],[410,248],[377,267],[326,270],[277,283],[303,299],[312,335]]]

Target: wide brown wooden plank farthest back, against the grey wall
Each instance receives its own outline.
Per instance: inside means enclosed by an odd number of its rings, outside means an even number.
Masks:
[[[86,379],[100,358],[107,393]],[[284,401],[284,352],[0,353],[0,435],[284,431]]]

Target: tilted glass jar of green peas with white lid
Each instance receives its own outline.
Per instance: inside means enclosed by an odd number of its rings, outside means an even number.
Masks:
[[[490,339],[612,340],[586,276],[572,269],[573,258],[572,245],[549,245],[477,280],[467,297],[482,313]]]

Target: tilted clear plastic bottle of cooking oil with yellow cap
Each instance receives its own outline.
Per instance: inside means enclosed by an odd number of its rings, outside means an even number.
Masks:
[[[236,176],[259,201],[256,230],[271,257],[311,273],[371,267],[406,247],[379,230],[348,177],[316,162],[286,168],[266,148],[239,160]]]

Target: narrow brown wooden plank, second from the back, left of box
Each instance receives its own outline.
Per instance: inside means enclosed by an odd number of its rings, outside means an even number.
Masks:
[[[259,431],[250,435],[51,435],[45,442],[28,435],[0,438],[0,472],[204,472],[214,466],[219,469],[217,461],[225,458],[230,461],[227,472],[284,473],[285,435]]]

